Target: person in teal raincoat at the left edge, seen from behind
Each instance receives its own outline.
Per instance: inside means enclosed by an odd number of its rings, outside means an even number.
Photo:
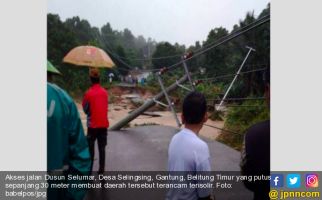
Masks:
[[[89,175],[91,159],[78,110],[63,89],[49,83],[52,76],[58,74],[54,70],[53,66],[47,64],[47,173]],[[52,183],[55,182],[48,181],[48,184]],[[82,188],[65,190],[49,187],[47,198],[81,200],[86,191]]]

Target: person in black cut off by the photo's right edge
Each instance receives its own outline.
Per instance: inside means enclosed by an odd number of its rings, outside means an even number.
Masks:
[[[264,73],[265,99],[270,104],[270,70]],[[241,172],[246,176],[270,175],[270,120],[251,126],[245,133],[241,151]],[[270,181],[244,181],[245,186],[254,192],[254,200],[269,198]]]

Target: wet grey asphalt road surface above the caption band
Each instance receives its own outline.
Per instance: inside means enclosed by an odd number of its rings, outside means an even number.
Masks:
[[[139,126],[109,131],[106,147],[107,171],[165,171],[168,146],[178,129],[169,126]],[[238,171],[240,152],[217,141],[207,141],[211,167],[215,171]],[[98,169],[95,152],[94,171]]]

